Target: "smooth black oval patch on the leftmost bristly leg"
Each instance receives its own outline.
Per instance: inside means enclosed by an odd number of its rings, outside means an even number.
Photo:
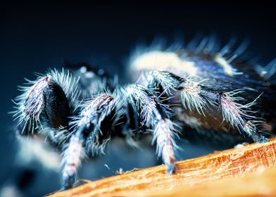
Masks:
[[[56,83],[50,83],[44,91],[45,111],[52,127],[65,127],[68,125],[70,108],[64,91]]]

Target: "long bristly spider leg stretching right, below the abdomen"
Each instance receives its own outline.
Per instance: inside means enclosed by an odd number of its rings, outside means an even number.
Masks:
[[[258,126],[261,126],[264,122],[261,118],[255,117],[250,110],[256,100],[242,104],[241,102],[244,101],[244,98],[237,96],[243,90],[225,91],[207,87],[199,82],[185,80],[170,72],[162,71],[153,71],[149,78],[149,84],[163,87],[168,94],[172,94],[170,91],[180,91],[184,108],[189,110],[196,109],[201,115],[204,115],[206,108],[215,108],[222,113],[222,121],[229,122],[232,127],[238,129],[239,132],[247,134],[253,141],[268,141],[258,129]]]

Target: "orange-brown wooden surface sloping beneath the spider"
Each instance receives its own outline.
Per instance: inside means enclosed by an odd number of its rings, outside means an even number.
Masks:
[[[264,175],[252,174],[269,167],[275,168],[263,172]],[[249,182],[251,179],[256,180]],[[215,182],[217,180],[220,181]],[[267,191],[276,195],[276,139],[180,161],[176,174],[171,176],[166,172],[165,165],[159,165],[94,182],[87,181],[51,196],[182,196],[184,193],[187,196],[214,196],[219,191],[222,192],[220,196],[225,196],[227,192],[233,196],[239,191],[235,191],[236,187],[241,193],[258,189],[259,180],[271,189]]]

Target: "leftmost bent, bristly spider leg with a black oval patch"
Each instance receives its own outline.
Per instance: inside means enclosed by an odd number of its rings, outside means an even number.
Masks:
[[[23,94],[15,98],[13,117],[18,120],[18,134],[39,134],[44,127],[56,130],[67,127],[75,108],[76,83],[64,70],[50,70],[35,81],[27,80],[29,86],[20,87]]]

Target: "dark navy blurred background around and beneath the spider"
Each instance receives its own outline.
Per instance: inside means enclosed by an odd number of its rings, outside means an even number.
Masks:
[[[34,80],[34,72],[61,68],[63,60],[67,60],[96,62],[123,78],[125,61],[134,46],[150,44],[160,36],[170,42],[175,37],[189,41],[196,34],[216,34],[222,44],[231,37],[240,41],[246,38],[250,40],[246,53],[259,58],[259,63],[265,65],[276,56],[276,12],[272,1],[10,1],[1,3],[0,16],[0,188],[19,182],[25,173],[30,179],[30,184],[22,187],[25,196],[57,190],[59,175],[39,163],[25,171],[15,165],[18,150],[8,111],[13,110],[11,98],[19,94],[17,85],[23,84],[24,77]],[[129,151],[122,144],[115,147],[120,153],[112,148],[103,158],[84,165],[80,177],[99,179],[112,175],[104,164],[112,170],[156,165],[154,151],[149,148]],[[220,147],[186,143],[180,155],[182,159],[192,158],[215,149]]]

